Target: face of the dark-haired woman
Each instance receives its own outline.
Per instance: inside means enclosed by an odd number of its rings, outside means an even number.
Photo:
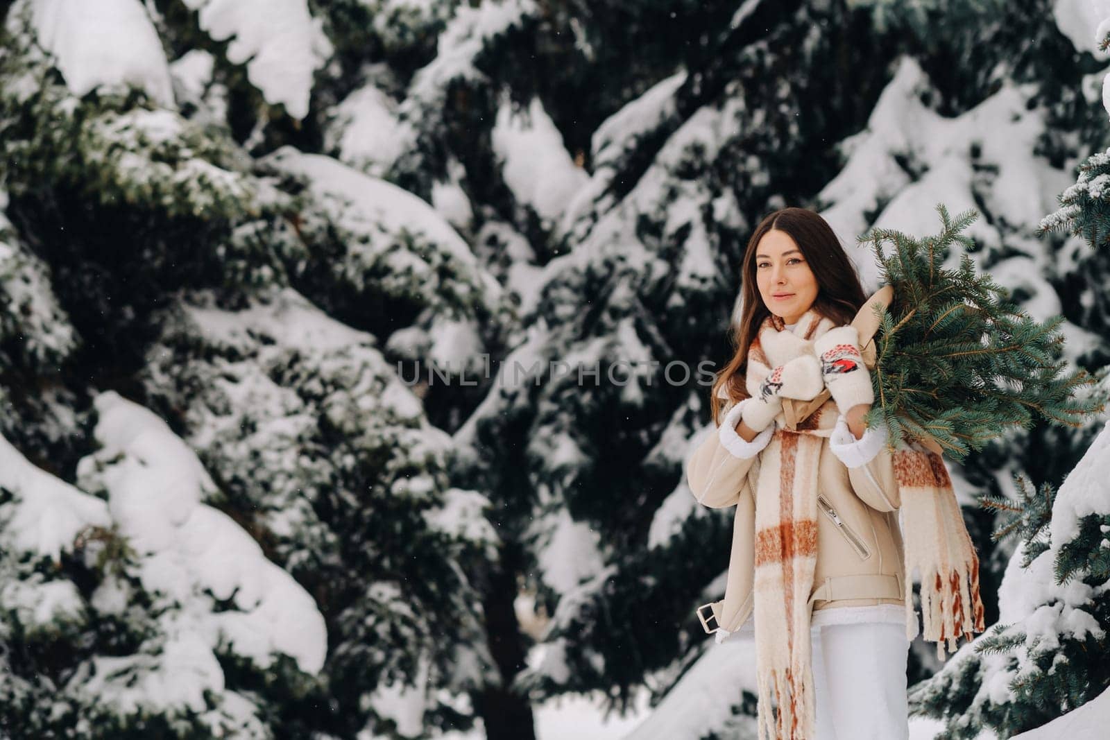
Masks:
[[[794,324],[817,298],[817,277],[797,242],[785,231],[771,229],[756,245],[756,285],[764,305]]]

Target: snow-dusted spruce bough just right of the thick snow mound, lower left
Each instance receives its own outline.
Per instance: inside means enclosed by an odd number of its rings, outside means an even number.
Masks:
[[[497,536],[373,337],[289,288],[238,310],[185,295],[159,324],[152,403],[176,410],[223,505],[327,619],[337,711],[306,721],[339,737],[470,723],[466,695],[495,677],[468,574]]]

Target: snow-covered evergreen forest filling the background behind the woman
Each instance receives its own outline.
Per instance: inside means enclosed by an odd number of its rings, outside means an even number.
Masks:
[[[975,209],[1110,391],[1101,0],[0,17],[0,737],[754,737],[683,464],[778,207],[869,291]],[[1110,717],[1107,419],[951,465],[992,628],[915,738]]]

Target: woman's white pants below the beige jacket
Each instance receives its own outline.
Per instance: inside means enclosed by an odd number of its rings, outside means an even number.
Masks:
[[[829,625],[810,636],[817,740],[908,740],[906,628]]]

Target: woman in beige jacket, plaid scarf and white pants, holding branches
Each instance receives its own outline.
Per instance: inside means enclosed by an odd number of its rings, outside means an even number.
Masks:
[[[899,486],[886,427],[864,424],[871,382],[848,325],[864,290],[804,209],[764,219],[743,270],[737,352],[712,394],[719,428],[687,464],[700,504],[737,506],[725,599],[699,617],[718,641],[755,635],[761,737],[905,739]],[[827,403],[784,428],[784,398],[826,388]]]

